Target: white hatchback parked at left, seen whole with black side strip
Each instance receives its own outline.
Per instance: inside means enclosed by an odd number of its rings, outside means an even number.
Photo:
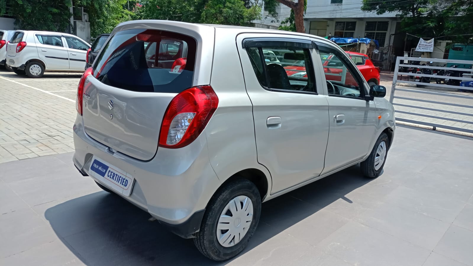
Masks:
[[[17,30],[7,43],[6,64],[19,75],[41,78],[44,71],[83,72],[90,44],[60,32]]]

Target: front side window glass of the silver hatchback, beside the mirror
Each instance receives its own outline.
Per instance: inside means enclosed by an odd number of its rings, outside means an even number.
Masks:
[[[361,98],[363,84],[343,52],[319,45],[329,95]]]

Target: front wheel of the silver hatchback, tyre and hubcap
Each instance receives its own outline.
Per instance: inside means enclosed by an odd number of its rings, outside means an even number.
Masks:
[[[361,172],[365,177],[375,178],[381,174],[389,151],[389,138],[386,133],[381,133],[368,158],[361,162]]]

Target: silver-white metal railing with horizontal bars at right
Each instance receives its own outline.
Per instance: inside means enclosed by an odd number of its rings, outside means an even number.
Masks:
[[[401,63],[403,61],[403,63]],[[473,64],[473,61],[465,61],[465,60],[448,60],[448,59],[435,59],[435,58],[418,58],[418,57],[397,57],[396,58],[396,66],[394,68],[394,77],[393,77],[393,85],[391,87],[391,95],[389,98],[389,101],[391,104],[393,104],[394,109],[396,109],[396,106],[401,106],[401,107],[410,107],[410,108],[415,108],[419,110],[428,110],[428,111],[437,111],[438,113],[442,114],[441,116],[439,115],[431,115],[431,114],[421,114],[419,112],[408,112],[408,111],[402,111],[402,110],[395,110],[396,114],[407,114],[407,115],[414,115],[414,116],[420,116],[420,117],[428,117],[428,118],[435,118],[437,121],[438,120],[444,120],[444,121],[451,121],[451,122],[459,122],[459,123],[464,123],[464,124],[472,124],[473,125],[473,105],[468,105],[468,104],[460,104],[460,103],[449,103],[446,101],[438,101],[438,100],[431,100],[431,99],[421,99],[421,98],[410,98],[410,97],[404,97],[404,96],[396,96],[396,92],[398,91],[403,91],[403,92],[408,92],[408,93],[415,93],[415,94],[424,94],[424,95],[434,95],[434,96],[439,96],[439,97],[448,97],[451,100],[451,102],[455,102],[455,99],[467,99],[471,100],[473,103],[473,97],[469,96],[467,94],[454,94],[454,93],[448,93],[448,92],[437,92],[436,89],[431,89],[431,90],[420,90],[420,89],[401,89],[401,88],[396,88],[398,86],[398,83],[408,83],[408,84],[416,84],[416,85],[423,85],[423,86],[433,86],[433,87],[441,87],[441,88],[449,88],[449,89],[462,89],[465,91],[470,91],[473,92],[473,88],[471,87],[463,87],[463,86],[455,86],[455,85],[449,85],[449,84],[436,84],[436,83],[426,83],[426,82],[420,82],[420,81],[411,81],[411,80],[398,80],[398,75],[405,75],[405,76],[411,76],[411,77],[427,77],[431,78],[431,80],[435,79],[440,79],[440,80],[463,80],[463,81],[473,81],[473,78],[464,78],[462,77],[462,74],[460,74],[460,77],[455,77],[455,76],[444,76],[444,75],[430,75],[430,74],[423,74],[423,73],[415,73],[416,71],[412,71],[412,73],[409,72],[402,72],[399,71],[400,67],[403,67],[404,69],[408,68],[414,68],[415,70],[417,69],[432,69],[432,70],[448,70],[448,71],[460,71],[462,72],[468,72],[468,73],[473,73],[472,69],[465,69],[465,68],[452,68],[452,67],[440,67],[440,66],[428,66],[428,65],[411,65],[409,61],[423,61],[423,62],[440,62],[440,63],[453,63],[453,64]],[[403,104],[403,103],[395,103],[394,99],[400,99],[400,100],[409,100],[409,101],[414,101],[414,102],[422,102],[422,103],[431,103],[431,104],[436,104],[436,105],[441,105],[443,106],[441,109],[440,108],[433,108],[431,107],[426,107],[426,106],[419,106],[419,105],[411,105],[411,104]],[[448,110],[448,106],[454,106],[455,108],[450,108]],[[466,112],[458,112],[458,108],[466,108]],[[445,114],[445,115],[443,115]],[[457,118],[460,118],[460,116],[467,116],[467,117],[472,117],[472,121],[467,121],[467,120],[462,120],[462,119],[456,119],[452,117],[445,117],[447,114],[454,114],[457,115]],[[441,124],[441,123],[429,123],[426,121],[421,121],[421,120],[415,120],[415,119],[405,119],[401,117],[397,117],[396,115],[396,121],[401,121],[401,122],[407,122],[407,123],[412,123],[412,124],[420,124],[420,125],[426,125],[426,126],[431,126],[434,130],[438,128],[444,128],[444,129],[449,129],[449,130],[455,130],[455,131],[460,131],[460,132],[465,132],[465,133],[473,133],[473,129],[465,128],[465,127],[458,127],[458,126],[451,126],[451,125],[446,125],[446,124]],[[473,128],[470,127],[470,128]]]

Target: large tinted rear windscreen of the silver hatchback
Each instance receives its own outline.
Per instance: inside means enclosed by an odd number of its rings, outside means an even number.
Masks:
[[[105,44],[93,73],[102,83],[120,89],[179,93],[192,87],[196,50],[195,39],[186,35],[123,30]]]

